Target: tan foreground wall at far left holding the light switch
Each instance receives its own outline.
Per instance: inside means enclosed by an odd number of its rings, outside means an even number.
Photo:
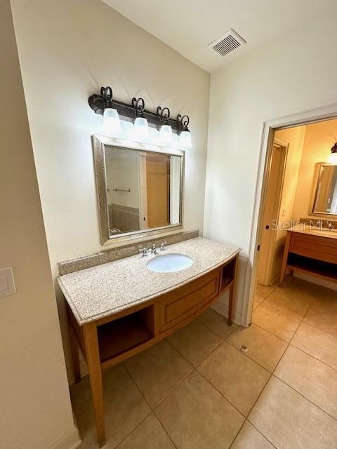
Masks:
[[[74,428],[11,7],[0,0],[0,447],[70,448]]]

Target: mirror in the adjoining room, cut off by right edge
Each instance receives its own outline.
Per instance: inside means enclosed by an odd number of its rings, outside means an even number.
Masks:
[[[337,214],[337,165],[320,164],[312,212]]]

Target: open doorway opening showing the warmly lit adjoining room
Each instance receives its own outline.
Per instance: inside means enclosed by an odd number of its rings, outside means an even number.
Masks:
[[[251,309],[253,312],[263,304],[266,312],[276,310],[302,320],[310,301],[300,304],[301,286],[315,291],[317,297],[326,295],[328,288],[337,297],[333,274],[337,272],[337,214],[331,207],[337,192],[337,157],[333,154],[337,119],[271,128],[269,139],[259,210],[258,257],[252,276],[255,303]],[[315,234],[315,241],[309,234]],[[279,286],[284,267],[289,267],[285,268],[286,282]]]

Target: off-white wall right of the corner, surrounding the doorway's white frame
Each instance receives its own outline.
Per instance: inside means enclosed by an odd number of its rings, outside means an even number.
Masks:
[[[243,248],[238,318],[253,262],[248,251],[263,122],[337,102],[334,22],[308,23],[211,75],[204,235]]]

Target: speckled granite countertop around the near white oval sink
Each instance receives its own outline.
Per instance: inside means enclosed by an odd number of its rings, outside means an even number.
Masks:
[[[81,326],[183,286],[230,260],[240,250],[197,237],[169,245],[159,253],[192,257],[191,267],[181,272],[152,272],[146,263],[156,255],[135,255],[65,274],[58,277],[58,283]]]

